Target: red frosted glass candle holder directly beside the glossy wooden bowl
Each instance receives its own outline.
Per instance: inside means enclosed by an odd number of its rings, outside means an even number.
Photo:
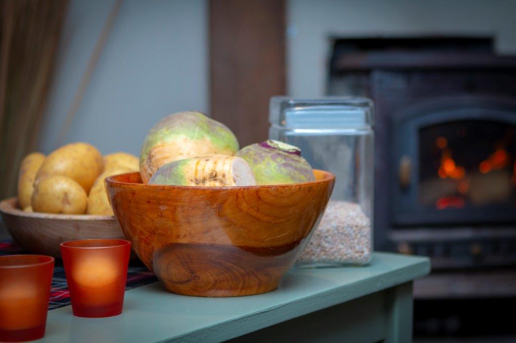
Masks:
[[[72,312],[78,317],[122,313],[131,242],[84,239],[61,244]]]

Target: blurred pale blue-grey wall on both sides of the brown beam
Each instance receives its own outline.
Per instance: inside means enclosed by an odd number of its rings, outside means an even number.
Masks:
[[[114,4],[72,0],[40,149],[50,152],[80,78]],[[139,153],[149,128],[166,114],[208,111],[206,0],[125,0],[65,142],[103,153]],[[290,0],[287,91],[325,94],[331,37],[494,36],[499,53],[516,53],[512,0]],[[266,114],[264,114],[266,115]]]

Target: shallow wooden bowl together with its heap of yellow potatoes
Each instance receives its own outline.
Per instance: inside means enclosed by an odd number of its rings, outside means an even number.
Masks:
[[[102,156],[87,143],[72,143],[50,155],[27,155],[18,178],[18,197],[0,202],[8,232],[32,253],[60,258],[59,245],[90,238],[125,238],[104,186],[108,176],[139,169],[125,152]]]

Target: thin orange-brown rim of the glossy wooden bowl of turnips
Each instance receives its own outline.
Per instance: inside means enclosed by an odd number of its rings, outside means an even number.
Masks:
[[[313,171],[317,171],[318,173],[322,174],[322,178],[320,180],[315,181],[308,181],[308,182],[298,182],[298,183],[283,183],[283,184],[267,184],[267,185],[256,185],[256,186],[180,186],[180,185],[165,185],[165,184],[147,184],[142,182],[122,182],[119,181],[121,177],[124,177],[126,175],[134,175],[134,174],[140,174],[138,171],[134,171],[132,173],[125,173],[125,174],[119,174],[119,175],[113,175],[107,177],[104,182],[106,184],[113,184],[113,185],[130,185],[133,187],[153,187],[156,190],[162,189],[162,190],[170,190],[172,188],[174,189],[180,189],[180,190],[206,190],[206,191],[214,191],[214,190],[258,190],[260,188],[288,188],[288,187],[296,187],[299,185],[302,186],[309,186],[312,184],[317,183],[325,183],[328,181],[332,181],[335,179],[335,175],[333,173],[330,173],[326,170],[321,169],[312,169]]]

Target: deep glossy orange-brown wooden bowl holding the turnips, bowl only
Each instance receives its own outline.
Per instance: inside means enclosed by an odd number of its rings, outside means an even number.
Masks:
[[[149,270],[174,293],[231,297],[276,289],[307,244],[335,177],[247,187],[142,184],[106,178],[111,206]]]

